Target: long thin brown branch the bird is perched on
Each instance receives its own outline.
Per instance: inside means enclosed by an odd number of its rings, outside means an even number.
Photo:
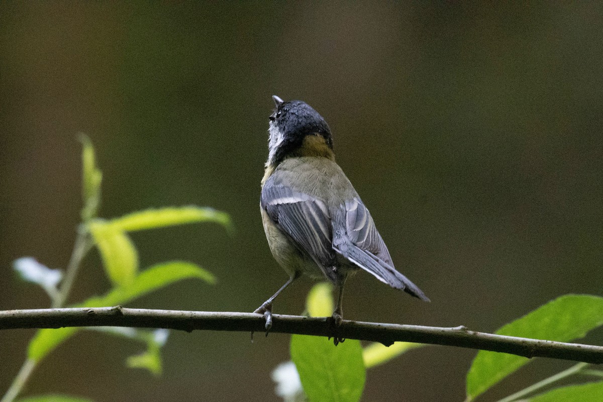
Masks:
[[[60,327],[141,327],[173,330],[264,332],[264,316],[256,313],[199,312],[180,310],[126,309],[121,306],[75,309],[0,311],[0,330]],[[380,324],[344,320],[340,327],[329,318],[273,315],[274,333],[338,336],[391,345],[397,341],[456,346],[517,354],[550,357],[586,363],[603,363],[603,347],[517,338],[454,328],[421,325]]]

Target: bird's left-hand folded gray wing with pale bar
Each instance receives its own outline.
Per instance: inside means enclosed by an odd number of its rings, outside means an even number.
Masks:
[[[326,272],[335,261],[329,210],[320,199],[268,181],[262,189],[260,206],[294,244]]]

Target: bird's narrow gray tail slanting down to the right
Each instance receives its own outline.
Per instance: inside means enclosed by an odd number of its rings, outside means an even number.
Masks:
[[[423,301],[431,301],[417,285],[412,283],[404,275],[400,274],[400,272],[396,271],[396,268],[374,254],[362,250],[350,243],[344,247],[336,248],[335,251],[391,287],[405,291],[411,296]]]

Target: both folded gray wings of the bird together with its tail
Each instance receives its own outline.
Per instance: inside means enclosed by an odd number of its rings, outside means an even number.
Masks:
[[[332,278],[329,268],[339,254],[380,281],[429,301],[421,289],[396,271],[370,212],[357,194],[339,207],[328,207],[321,199],[271,179],[262,187],[260,206],[327,278]]]

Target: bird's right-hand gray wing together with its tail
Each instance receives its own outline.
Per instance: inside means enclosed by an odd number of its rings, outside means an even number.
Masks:
[[[355,197],[339,207],[335,219],[333,248],[380,281],[421,300],[429,298],[400,272],[361,199]]]

